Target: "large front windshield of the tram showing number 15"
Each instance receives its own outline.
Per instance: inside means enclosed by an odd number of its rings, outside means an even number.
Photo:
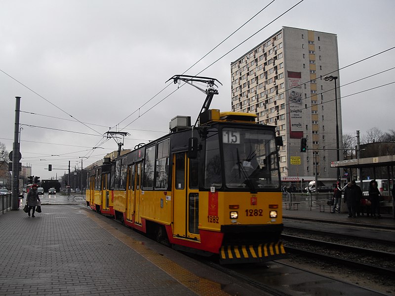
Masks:
[[[279,187],[275,134],[260,129],[222,129],[228,188],[266,190]]]

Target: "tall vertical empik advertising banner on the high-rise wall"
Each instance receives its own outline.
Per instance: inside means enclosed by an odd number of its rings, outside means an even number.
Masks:
[[[288,111],[289,111],[289,137],[303,138],[302,125],[302,73],[287,71],[288,76]]]

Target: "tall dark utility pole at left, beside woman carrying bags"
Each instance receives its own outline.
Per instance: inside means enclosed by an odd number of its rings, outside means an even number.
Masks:
[[[21,97],[15,97],[15,126],[14,144],[12,147],[12,194],[11,211],[19,210],[18,190],[19,190],[19,109]]]

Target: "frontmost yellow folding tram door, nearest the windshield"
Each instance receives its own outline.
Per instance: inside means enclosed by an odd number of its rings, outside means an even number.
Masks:
[[[186,152],[173,157],[173,235],[199,240],[198,161]]]

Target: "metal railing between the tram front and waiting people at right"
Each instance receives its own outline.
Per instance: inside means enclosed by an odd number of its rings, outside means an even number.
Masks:
[[[319,209],[319,205],[327,204],[333,193],[282,193],[282,202],[288,205],[298,203],[299,209]]]

